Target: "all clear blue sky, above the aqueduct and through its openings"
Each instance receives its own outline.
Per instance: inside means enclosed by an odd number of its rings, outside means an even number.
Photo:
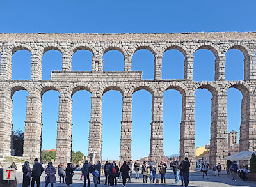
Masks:
[[[181,33],[212,31],[256,31],[255,1],[1,1],[0,33]],[[243,80],[243,54],[228,50],[227,80]],[[30,79],[30,56],[26,51],[13,55],[13,79]],[[124,58],[111,50],[104,54],[105,71],[122,71]],[[194,80],[214,80],[214,55],[201,49],[195,52]],[[42,59],[43,79],[51,70],[61,70],[61,54],[46,52]],[[76,52],[72,70],[91,70],[92,54]],[[143,71],[143,79],[154,78],[154,56],[139,50],[132,58],[132,70]],[[168,50],[163,56],[163,79],[184,78],[184,56]],[[242,95],[228,89],[228,131],[239,131]],[[13,128],[24,130],[26,91],[13,96]],[[196,147],[210,139],[211,98],[206,89],[197,90],[195,98]],[[58,92],[48,91],[42,98],[42,149],[56,147]],[[132,158],[148,156],[150,147],[151,95],[137,91],[132,101]],[[79,91],[73,101],[74,151],[88,154],[90,93]],[[179,154],[181,99],[178,91],[166,91],[163,103],[164,153]],[[108,91],[102,103],[102,159],[120,155],[122,94]]]

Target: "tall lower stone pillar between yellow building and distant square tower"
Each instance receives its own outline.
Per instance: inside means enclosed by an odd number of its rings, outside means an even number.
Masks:
[[[210,140],[210,165],[226,165],[227,145],[227,95],[212,97],[212,123]]]

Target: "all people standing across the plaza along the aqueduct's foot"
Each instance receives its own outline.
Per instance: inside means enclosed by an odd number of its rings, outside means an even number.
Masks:
[[[2,169],[1,165],[1,170]],[[168,168],[168,165],[165,161],[161,161],[158,165],[156,164],[156,161],[154,161],[152,158],[150,158],[149,161],[143,161],[143,163],[140,163],[138,160],[136,161],[124,161],[124,163],[116,163],[116,161],[106,161],[106,163],[101,164],[100,161],[97,161],[95,164],[89,163],[88,160],[86,160],[83,164],[83,167],[81,167],[81,180],[84,178],[84,184],[83,187],[90,187],[90,176],[93,177],[93,184],[94,187],[97,187],[98,184],[100,184],[100,176],[101,174],[104,174],[104,186],[116,186],[117,181],[122,180],[122,184],[125,187],[127,182],[132,181],[132,173],[135,172],[134,179],[140,178],[140,167],[141,167],[141,174],[143,178],[143,183],[158,183],[159,180],[156,179],[156,171],[159,171],[159,174],[161,175],[161,182],[160,183],[166,183],[166,169]],[[173,170],[173,174],[175,177],[175,184],[179,184],[179,181],[181,181],[180,186],[187,187],[189,184],[189,168],[190,163],[188,161],[188,158],[185,158],[181,162],[177,160],[177,158],[173,158],[173,161],[170,163],[170,167]],[[12,165],[10,165],[10,168],[15,168],[17,170],[17,166],[13,162]],[[213,176],[221,176],[221,165],[220,163],[218,165],[213,165],[212,171]],[[24,165],[22,166],[22,172],[23,172],[23,181],[22,181],[22,187],[28,187],[31,185],[31,187],[40,186],[40,177],[43,172],[45,172],[45,187],[51,184],[51,187],[54,186],[54,183],[56,183],[56,173],[58,171],[58,176],[60,183],[66,183],[67,186],[70,186],[70,184],[73,183],[73,176],[74,176],[74,170],[76,167],[72,165],[72,163],[60,163],[58,165],[58,170],[54,168],[52,162],[49,162],[47,167],[43,167],[41,163],[38,162],[38,159],[35,158],[33,167],[29,165],[28,161],[25,161]],[[204,176],[208,177],[209,170],[209,163],[205,162],[202,164],[201,172]],[[236,176],[237,171],[239,172],[239,176],[241,179],[246,179],[248,177],[248,165],[243,167],[243,170],[238,170],[238,166],[236,161],[234,161],[230,167],[230,170],[232,172],[233,179],[232,181],[236,182]],[[0,172],[1,173],[1,172]],[[3,176],[2,176],[3,178]],[[86,186],[86,183],[88,185]],[[7,186],[17,186],[16,181],[7,181],[5,183]],[[4,186],[5,187],[5,186]]]

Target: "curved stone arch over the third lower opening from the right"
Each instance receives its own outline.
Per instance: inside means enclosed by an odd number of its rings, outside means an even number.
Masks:
[[[168,89],[175,89],[179,91],[182,97],[189,95],[188,88],[182,82],[168,82],[167,84],[164,84],[164,86],[160,88],[159,94],[163,95],[163,93]]]

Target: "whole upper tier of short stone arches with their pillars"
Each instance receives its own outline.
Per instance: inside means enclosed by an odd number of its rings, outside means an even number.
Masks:
[[[35,47],[34,47],[35,48]],[[225,54],[230,49],[237,49],[243,53],[244,56],[244,80],[256,79],[256,68],[255,68],[255,49],[248,48],[244,43],[232,43],[230,45],[225,45],[223,47],[218,47],[212,43],[198,43],[195,47],[188,49],[185,45],[180,43],[170,43],[168,45],[163,45],[162,47],[155,47],[152,44],[148,45],[134,45],[129,47],[123,47],[122,45],[112,44],[112,45],[104,45],[104,47],[100,47],[99,49],[95,49],[93,45],[90,44],[76,44],[72,47],[64,49],[61,45],[47,44],[42,47],[37,47],[33,49],[33,46],[26,44],[15,44],[9,47],[3,47],[1,49],[0,46],[0,55],[1,55],[1,75],[2,79],[10,79],[12,78],[12,56],[15,52],[19,50],[28,50],[31,52],[31,79],[32,80],[40,80],[42,79],[42,57],[45,52],[49,50],[58,50],[61,54],[61,67],[58,70],[70,71],[72,70],[72,57],[79,50],[88,50],[91,52],[92,58],[92,71],[102,71],[103,61],[102,57],[104,54],[109,52],[110,50],[117,50],[123,56],[123,70],[131,71],[132,70],[132,57],[135,52],[138,50],[148,50],[153,55],[154,61],[154,79],[160,80],[162,79],[162,58],[163,54],[168,50],[179,50],[184,56],[184,78],[183,79],[193,79],[193,57],[196,51],[201,49],[207,49],[214,54],[215,60],[215,75],[214,80],[225,80]],[[95,69],[95,64],[99,63],[99,66],[102,66],[102,69]],[[90,71],[90,70],[89,70]],[[191,73],[192,72],[192,73]],[[240,79],[239,79],[240,80]],[[241,79],[243,80],[243,79]]]

